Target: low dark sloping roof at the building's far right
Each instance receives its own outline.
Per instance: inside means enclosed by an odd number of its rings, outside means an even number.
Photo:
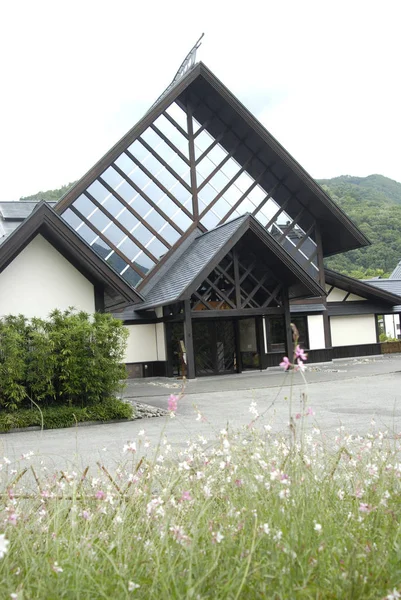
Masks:
[[[381,279],[374,279],[369,282],[361,281],[360,279],[354,279],[347,275],[342,275],[331,269],[325,269],[326,282],[329,285],[334,285],[342,290],[357,294],[363,298],[367,298],[373,302],[384,302],[390,306],[395,306],[401,303],[401,296],[398,296],[395,292],[395,288],[392,291],[388,289],[386,285],[382,285]],[[388,280],[387,280],[388,281]],[[380,282],[380,283],[379,283]],[[378,285],[377,285],[378,283]]]

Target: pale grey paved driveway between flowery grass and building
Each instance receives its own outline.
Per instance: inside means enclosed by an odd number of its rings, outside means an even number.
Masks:
[[[227,424],[236,428],[250,423],[251,402],[257,403],[259,413],[266,411],[258,421],[260,425],[270,424],[274,432],[286,431],[290,398],[295,415],[301,412],[303,392],[307,393],[306,406],[315,412],[308,422],[319,427],[325,436],[334,435],[340,425],[345,425],[350,433],[363,435],[373,417],[382,430],[401,432],[401,355],[312,365],[305,378],[307,386],[300,373],[272,369],[189,381],[174,419],[3,434],[0,457],[8,457],[15,468],[27,463],[26,459],[20,460],[23,453],[33,452],[31,463],[42,463],[42,468],[76,470],[100,461],[112,469],[121,461],[126,442],[144,439],[138,437],[143,429],[150,450],[162,435],[176,447],[183,447],[189,438],[198,435],[213,440]],[[166,408],[169,394],[178,394],[181,385],[169,379],[131,380],[125,396]],[[206,421],[196,420],[197,411]]]

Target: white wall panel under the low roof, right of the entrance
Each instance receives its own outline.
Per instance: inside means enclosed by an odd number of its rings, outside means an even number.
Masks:
[[[376,343],[374,315],[330,317],[333,346]]]

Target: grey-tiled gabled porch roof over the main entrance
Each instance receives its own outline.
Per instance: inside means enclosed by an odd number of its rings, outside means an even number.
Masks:
[[[247,233],[262,242],[269,267],[279,273],[289,291],[300,296],[324,295],[324,291],[252,215],[243,215],[206,233],[197,232],[184,251],[177,250],[163,267],[158,281],[142,289],[147,310],[190,298],[209,273]]]

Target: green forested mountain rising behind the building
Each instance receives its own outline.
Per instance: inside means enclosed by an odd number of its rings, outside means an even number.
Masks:
[[[383,175],[342,175],[318,183],[372,242],[367,248],[332,256],[326,265],[359,279],[388,276],[401,260],[401,183]],[[58,200],[72,185],[20,200]]]

